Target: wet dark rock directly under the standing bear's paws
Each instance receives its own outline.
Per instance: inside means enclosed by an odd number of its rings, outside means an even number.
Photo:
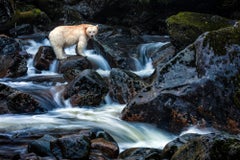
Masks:
[[[85,69],[92,69],[92,65],[86,57],[70,56],[66,60],[60,61],[58,72],[63,73],[64,78],[70,82]]]

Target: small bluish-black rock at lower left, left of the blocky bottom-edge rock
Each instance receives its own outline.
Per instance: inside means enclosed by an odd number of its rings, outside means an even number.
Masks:
[[[44,135],[42,138],[37,139],[35,141],[32,141],[28,145],[28,152],[34,152],[38,156],[53,156],[51,149],[50,149],[50,143],[52,141],[55,141],[56,138],[50,135]]]

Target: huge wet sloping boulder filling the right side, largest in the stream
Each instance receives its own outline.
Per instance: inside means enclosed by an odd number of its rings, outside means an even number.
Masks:
[[[122,118],[180,132],[192,124],[240,133],[239,27],[207,32],[157,67],[153,84],[122,111]]]

